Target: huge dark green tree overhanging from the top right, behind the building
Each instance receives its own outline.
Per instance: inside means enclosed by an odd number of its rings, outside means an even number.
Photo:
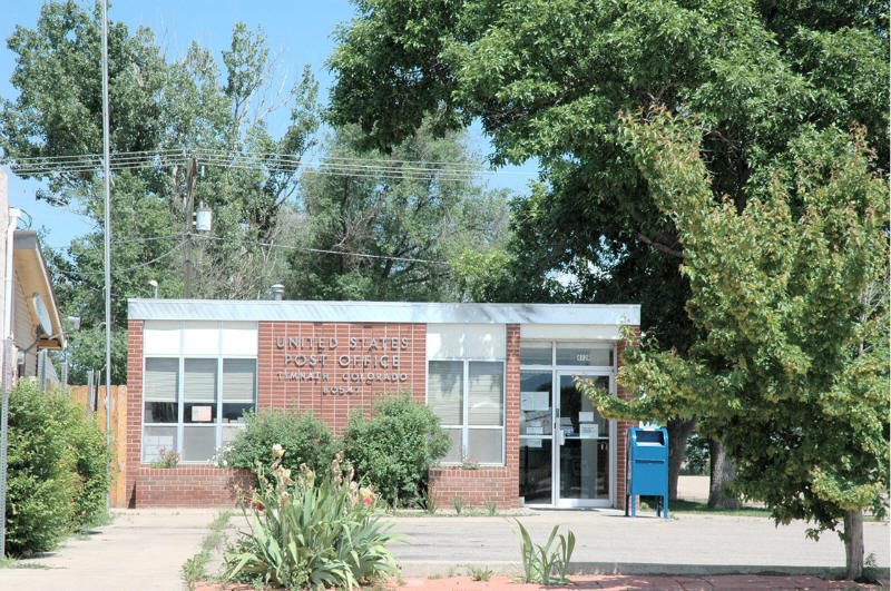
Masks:
[[[684,245],[619,141],[620,110],[701,114],[715,194],[740,209],[770,190],[774,170],[791,173],[789,148],[813,130],[858,121],[888,161],[884,2],[356,6],[331,60],[335,122],[359,122],[366,142],[385,149],[425,118],[439,130],[479,119],[493,164],[540,161],[546,183],[515,207],[511,257],[489,285],[468,279],[486,298],[638,302],[645,341],[679,355],[704,336],[684,309]],[[695,413],[675,404],[654,412],[683,450]]]

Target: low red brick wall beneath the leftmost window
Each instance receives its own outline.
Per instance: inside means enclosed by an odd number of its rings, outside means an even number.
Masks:
[[[173,469],[140,466],[134,492],[135,506],[232,506],[237,492],[248,491],[254,476],[247,470],[202,465]]]

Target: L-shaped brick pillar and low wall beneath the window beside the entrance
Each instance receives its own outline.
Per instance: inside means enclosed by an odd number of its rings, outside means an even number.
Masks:
[[[482,506],[495,501],[500,509],[519,503],[520,491],[520,325],[507,325],[507,416],[503,466],[462,470],[460,466],[437,466],[430,471],[430,494],[441,508],[451,508],[460,496],[467,506]]]

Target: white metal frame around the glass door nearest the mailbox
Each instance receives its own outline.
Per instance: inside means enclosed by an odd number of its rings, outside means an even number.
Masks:
[[[607,466],[607,477],[609,480],[609,493],[607,499],[562,499],[560,496],[560,447],[562,447],[562,432],[560,431],[560,378],[564,376],[580,377],[607,377],[609,380],[609,393],[616,395],[616,374],[608,370],[598,370],[590,366],[571,368],[567,366],[555,367],[551,381],[551,414],[554,416],[554,443],[551,444],[551,506],[557,509],[576,508],[607,508],[616,506],[616,422],[608,421],[609,433],[609,461]],[[579,394],[582,395],[582,394]],[[598,437],[599,439],[599,437]]]

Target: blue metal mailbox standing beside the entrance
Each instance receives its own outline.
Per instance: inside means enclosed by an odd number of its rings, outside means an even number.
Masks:
[[[668,519],[668,432],[664,429],[629,429],[625,454],[625,515],[637,514],[639,495],[660,496],[656,514]]]

